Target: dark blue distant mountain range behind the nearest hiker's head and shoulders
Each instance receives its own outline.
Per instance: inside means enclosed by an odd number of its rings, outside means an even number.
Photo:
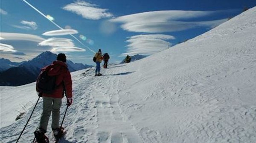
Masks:
[[[57,54],[46,51],[27,62],[11,62],[0,59],[0,86],[19,86],[36,81],[41,68],[52,64]],[[70,72],[93,67],[87,64],[76,64],[67,60]]]

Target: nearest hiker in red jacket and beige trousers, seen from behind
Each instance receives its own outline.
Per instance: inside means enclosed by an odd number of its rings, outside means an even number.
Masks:
[[[56,88],[52,94],[38,93],[39,96],[43,97],[43,112],[37,131],[43,133],[43,135],[47,132],[49,117],[52,113],[52,131],[54,135],[58,135],[60,132],[59,120],[61,99],[64,97],[64,93],[67,97],[67,106],[70,106],[73,102],[72,80],[66,64],[66,55],[64,53],[59,53],[57,61],[52,62],[52,64],[41,70],[47,70],[49,76],[56,76]]]

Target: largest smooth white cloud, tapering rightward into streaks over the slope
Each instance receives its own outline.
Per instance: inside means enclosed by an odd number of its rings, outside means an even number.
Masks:
[[[150,11],[138,14],[125,15],[110,20],[111,22],[121,22],[122,29],[131,32],[173,32],[182,31],[189,28],[199,26],[216,26],[221,24],[224,20],[213,21],[189,21],[192,18],[210,16],[217,13],[230,12],[227,11]]]

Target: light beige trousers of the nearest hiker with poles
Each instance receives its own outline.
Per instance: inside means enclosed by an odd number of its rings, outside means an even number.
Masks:
[[[52,129],[59,128],[61,98],[43,97],[43,113],[39,128],[47,131],[47,125],[52,113]]]

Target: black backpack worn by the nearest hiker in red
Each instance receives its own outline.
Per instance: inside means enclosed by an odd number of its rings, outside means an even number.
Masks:
[[[52,94],[57,87],[56,76],[48,76],[47,70],[41,71],[36,80],[36,91],[38,93]]]

